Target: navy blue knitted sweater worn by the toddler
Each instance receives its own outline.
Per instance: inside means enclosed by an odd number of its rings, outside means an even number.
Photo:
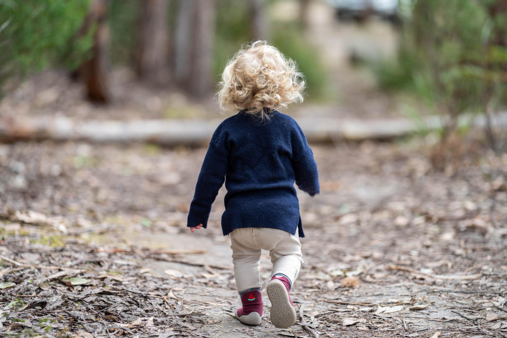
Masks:
[[[274,111],[267,122],[240,111],[216,128],[190,205],[188,227],[206,228],[211,204],[225,179],[224,235],[237,228],[303,233],[294,188],[319,193],[317,165],[293,118]]]

